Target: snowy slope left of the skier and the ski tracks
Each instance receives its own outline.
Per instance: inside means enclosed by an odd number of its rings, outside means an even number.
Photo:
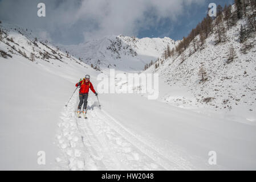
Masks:
[[[5,23],[0,28],[5,32],[0,50],[11,56],[0,56],[0,169],[55,169],[60,111],[78,79],[97,73],[50,44],[37,42],[35,46],[32,35],[26,37],[22,28]],[[7,40],[11,38],[13,42]],[[34,62],[18,53],[19,49],[28,57],[34,52]],[[43,58],[46,52],[48,57]],[[46,152],[46,166],[38,165],[38,151]]]

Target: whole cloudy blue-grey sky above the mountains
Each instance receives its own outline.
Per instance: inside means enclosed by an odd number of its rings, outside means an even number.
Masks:
[[[46,16],[38,17],[38,3]],[[180,40],[201,22],[209,3],[233,0],[0,0],[0,20],[30,28],[55,44],[79,44],[109,35]]]

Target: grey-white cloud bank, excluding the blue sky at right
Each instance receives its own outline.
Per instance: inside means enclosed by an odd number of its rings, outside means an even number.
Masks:
[[[46,4],[46,17],[37,4]],[[2,0],[0,19],[41,32],[55,43],[80,43],[106,35],[136,36],[162,19],[175,22],[186,7],[205,0]],[[42,34],[42,32],[44,32]],[[39,35],[39,36],[40,36]]]

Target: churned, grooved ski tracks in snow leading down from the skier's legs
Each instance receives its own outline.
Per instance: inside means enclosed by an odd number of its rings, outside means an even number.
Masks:
[[[132,134],[88,98],[87,117],[78,118],[78,94],[64,108],[56,135],[62,150],[56,158],[63,170],[188,170],[177,156],[166,157]]]

